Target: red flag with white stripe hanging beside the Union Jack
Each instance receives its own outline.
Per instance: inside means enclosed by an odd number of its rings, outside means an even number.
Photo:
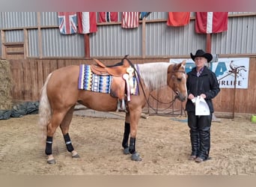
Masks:
[[[97,32],[96,12],[78,12],[77,24],[80,34]]]

